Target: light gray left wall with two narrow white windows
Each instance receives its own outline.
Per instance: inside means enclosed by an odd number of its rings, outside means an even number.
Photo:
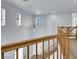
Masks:
[[[6,26],[1,26],[1,44],[26,40],[32,36],[32,15],[2,0],[1,7],[6,9]],[[22,25],[16,25],[16,13],[22,15]],[[26,53],[26,52],[25,52]],[[14,51],[5,53],[5,59],[14,59]]]

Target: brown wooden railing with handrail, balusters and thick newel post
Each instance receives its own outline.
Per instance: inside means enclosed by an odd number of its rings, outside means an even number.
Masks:
[[[19,59],[18,58],[18,49],[20,48],[23,48],[23,47],[27,47],[27,59],[30,59],[29,58],[29,46],[31,45],[36,45],[36,57],[35,59],[38,59],[38,43],[42,43],[42,59],[45,59],[45,49],[44,49],[44,42],[45,41],[48,41],[48,53],[47,54],[47,57],[48,59],[50,59],[50,49],[51,49],[51,46],[50,46],[50,40],[52,40],[52,54],[53,54],[53,59],[54,59],[54,49],[55,49],[55,45],[54,45],[54,42],[55,40],[57,41],[57,59],[59,57],[59,47],[60,47],[60,54],[63,54],[63,59],[69,59],[68,58],[68,33],[66,33],[65,31],[61,31],[61,30],[58,30],[58,34],[57,35],[50,35],[50,36],[45,36],[45,37],[40,37],[40,38],[34,38],[34,39],[29,39],[29,40],[24,40],[24,41],[20,41],[20,42],[15,42],[15,43],[9,43],[9,44],[6,44],[6,45],[2,45],[1,46],[1,58],[2,59],[5,59],[4,58],[4,54],[5,52],[9,52],[9,51],[12,51],[12,50],[16,50],[16,59]],[[58,46],[59,45],[59,46]],[[61,55],[60,55],[60,59],[61,59]]]

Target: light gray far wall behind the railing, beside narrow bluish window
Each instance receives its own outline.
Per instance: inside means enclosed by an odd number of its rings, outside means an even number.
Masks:
[[[40,25],[34,32],[34,37],[57,34],[57,26],[72,25],[72,13],[40,15]]]

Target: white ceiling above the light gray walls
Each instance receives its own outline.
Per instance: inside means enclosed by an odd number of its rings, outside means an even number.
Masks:
[[[76,0],[6,0],[9,3],[34,14],[69,13],[76,12]]]

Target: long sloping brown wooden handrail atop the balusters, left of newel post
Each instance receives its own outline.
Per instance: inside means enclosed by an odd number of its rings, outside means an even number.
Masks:
[[[34,39],[29,39],[29,40],[23,40],[15,43],[9,43],[1,46],[1,52],[7,52],[11,50],[15,50],[18,48],[22,48],[28,45],[33,45],[35,43],[43,42],[50,40],[52,38],[56,38],[57,35],[50,35],[50,36],[45,36],[45,37],[40,37],[40,38],[34,38]]]

